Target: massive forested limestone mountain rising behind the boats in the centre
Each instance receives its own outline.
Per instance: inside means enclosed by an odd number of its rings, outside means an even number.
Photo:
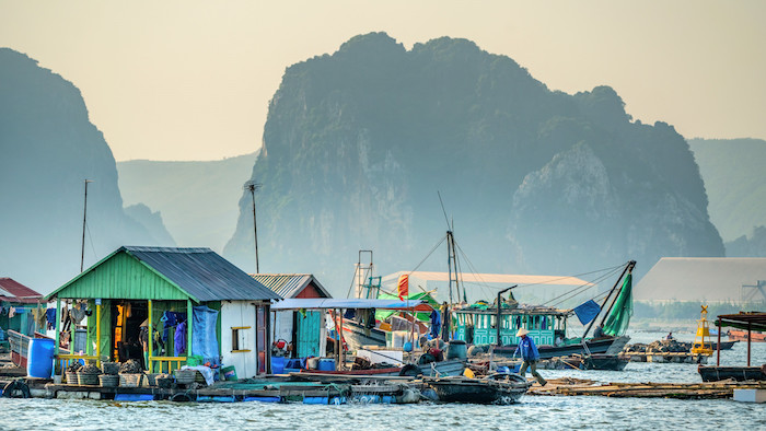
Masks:
[[[481,272],[580,273],[722,256],[699,171],[665,124],[611,88],[554,92],[464,39],[406,50],[382,33],[287,69],[253,179],[262,272],[345,295],[359,249],[411,270],[446,230]],[[224,253],[255,269],[252,202]],[[445,247],[421,269],[446,270]],[[467,266],[467,263],[463,260]],[[467,270],[467,268],[464,268]]]

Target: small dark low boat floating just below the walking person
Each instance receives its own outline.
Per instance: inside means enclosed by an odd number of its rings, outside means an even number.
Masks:
[[[496,374],[486,378],[423,377],[440,403],[513,404],[532,386],[518,374]]]

